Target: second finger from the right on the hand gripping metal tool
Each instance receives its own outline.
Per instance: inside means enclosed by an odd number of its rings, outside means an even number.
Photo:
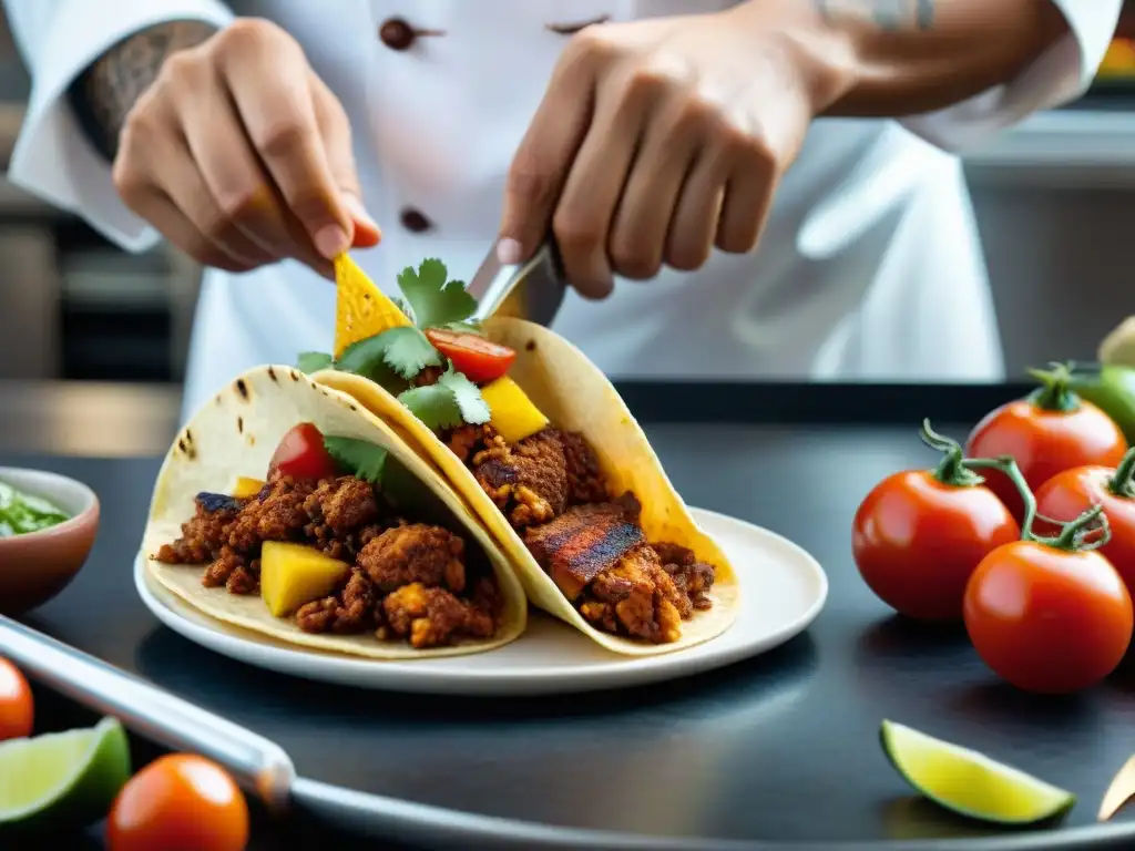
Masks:
[[[720,148],[708,146],[698,155],[670,220],[666,266],[693,271],[709,260],[731,170],[732,161]]]

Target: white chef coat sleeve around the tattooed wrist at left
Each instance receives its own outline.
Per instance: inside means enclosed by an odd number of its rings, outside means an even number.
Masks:
[[[87,141],[67,89],[95,59],[128,35],[167,20],[226,26],[218,0],[5,0],[8,25],[32,77],[24,125],[8,179],[85,219],[127,251],[158,239],[118,197],[110,163]]]

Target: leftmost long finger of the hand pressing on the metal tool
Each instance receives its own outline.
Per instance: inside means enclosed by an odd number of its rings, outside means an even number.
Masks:
[[[530,258],[552,228],[556,202],[591,123],[597,65],[579,36],[564,51],[513,155],[504,193],[498,254]]]

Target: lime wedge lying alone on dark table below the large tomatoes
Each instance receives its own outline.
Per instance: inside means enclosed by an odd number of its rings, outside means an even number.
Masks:
[[[878,738],[907,783],[962,816],[1027,825],[1067,812],[1076,803],[1071,792],[901,724],[884,721]]]

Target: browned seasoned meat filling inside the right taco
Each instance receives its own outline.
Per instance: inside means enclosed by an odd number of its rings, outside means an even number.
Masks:
[[[686,547],[647,542],[638,499],[612,498],[582,435],[548,428],[508,445],[491,426],[464,426],[443,437],[598,629],[669,643],[712,607],[713,566]]]

